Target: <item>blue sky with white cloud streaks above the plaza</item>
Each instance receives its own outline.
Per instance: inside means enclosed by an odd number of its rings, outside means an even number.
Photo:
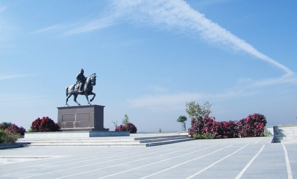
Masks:
[[[0,122],[27,130],[97,73],[106,128],[181,130],[191,100],[217,121],[297,123],[297,1],[0,1]],[[71,97],[69,105],[76,105]],[[86,105],[84,96],[78,101]],[[190,127],[190,119],[187,121]]]

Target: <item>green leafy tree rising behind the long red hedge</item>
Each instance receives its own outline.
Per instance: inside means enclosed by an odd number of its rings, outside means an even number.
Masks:
[[[203,119],[205,116],[211,114],[211,104],[204,102],[203,106],[195,104],[195,101],[186,103],[186,112],[189,114],[191,119]]]

